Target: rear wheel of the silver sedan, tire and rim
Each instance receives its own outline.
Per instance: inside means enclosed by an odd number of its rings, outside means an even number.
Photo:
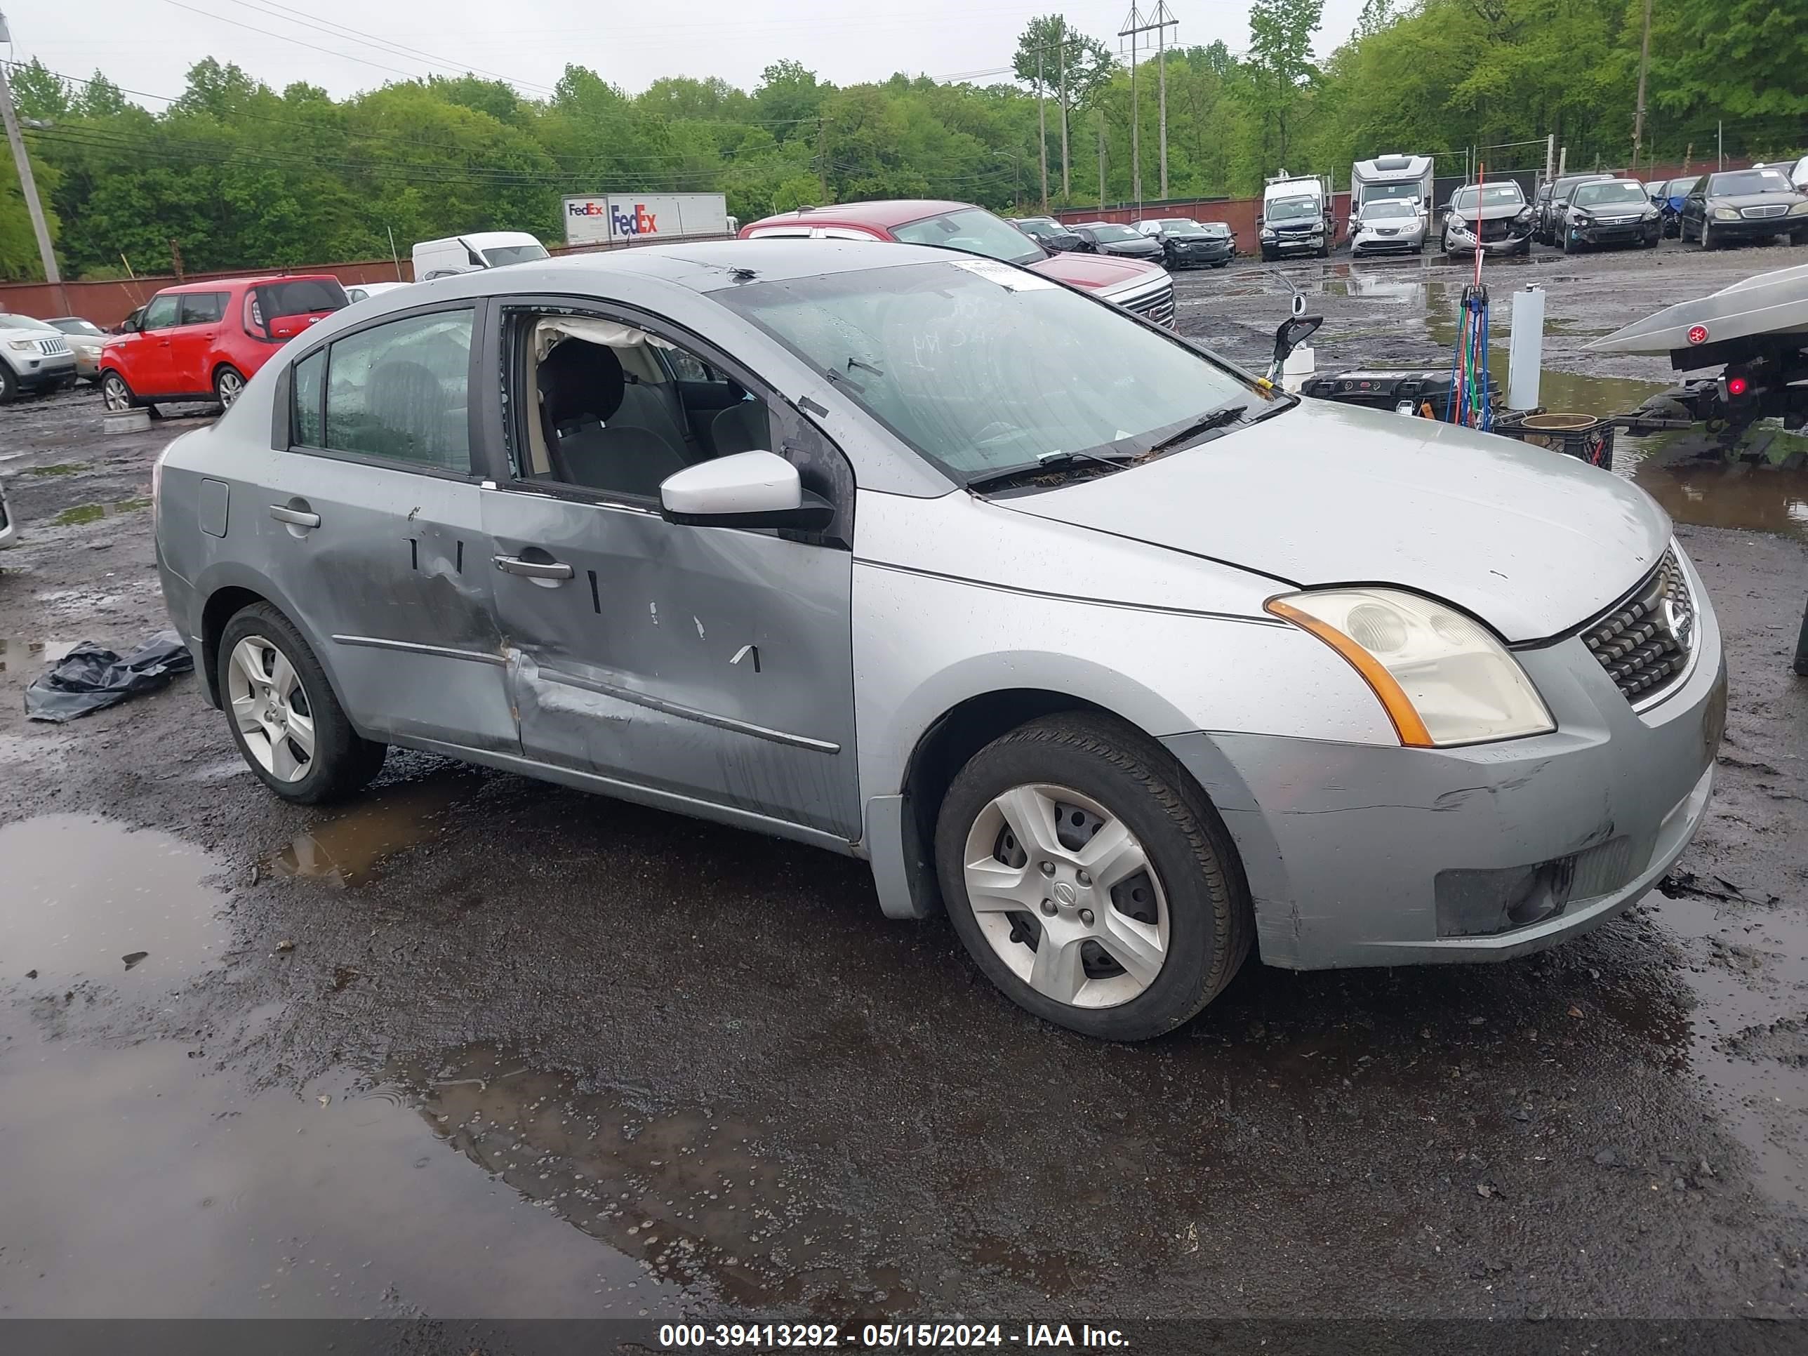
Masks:
[[[282,799],[344,799],[381,770],[387,745],[351,727],[320,660],[268,602],[226,622],[215,665],[233,743],[259,781]]]

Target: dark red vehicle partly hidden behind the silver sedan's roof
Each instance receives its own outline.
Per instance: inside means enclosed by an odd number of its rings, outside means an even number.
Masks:
[[[897,199],[799,208],[741,228],[743,240],[772,237],[828,240],[900,240],[964,250],[969,255],[1022,264],[1056,282],[1081,287],[1157,325],[1173,329],[1173,278],[1161,264],[1106,255],[1050,255],[1003,217],[971,202]]]

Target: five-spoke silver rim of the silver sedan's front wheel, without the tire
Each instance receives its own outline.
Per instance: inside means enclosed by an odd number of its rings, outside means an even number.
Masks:
[[[980,933],[1031,989],[1117,1007],[1168,958],[1168,899],[1143,843],[1067,786],[1012,786],[967,830],[962,870]]]

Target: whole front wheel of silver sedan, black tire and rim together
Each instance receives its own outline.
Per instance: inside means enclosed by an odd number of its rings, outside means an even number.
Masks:
[[[975,964],[1085,1036],[1173,1031],[1249,955],[1249,890],[1222,821],[1173,758],[1108,716],[1047,716],[975,754],[935,853]]]

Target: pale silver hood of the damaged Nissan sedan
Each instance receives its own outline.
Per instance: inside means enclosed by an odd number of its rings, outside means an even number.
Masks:
[[[1611,472],[1316,400],[1117,476],[996,503],[1300,588],[1417,589],[1508,642],[1606,611],[1671,537],[1663,510]]]

